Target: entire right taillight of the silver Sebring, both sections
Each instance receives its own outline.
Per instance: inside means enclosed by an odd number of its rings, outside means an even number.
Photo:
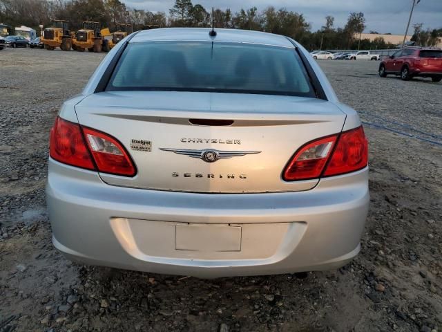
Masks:
[[[285,181],[336,176],[363,169],[368,163],[368,142],[361,127],[301,147],[285,168]]]

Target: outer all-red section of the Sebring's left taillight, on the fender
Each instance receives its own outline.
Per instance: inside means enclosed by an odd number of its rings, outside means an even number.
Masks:
[[[60,163],[95,169],[79,124],[57,118],[50,131],[50,156]]]

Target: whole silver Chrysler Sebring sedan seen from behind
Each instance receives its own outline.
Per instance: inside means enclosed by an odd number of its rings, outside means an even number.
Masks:
[[[81,264],[222,277],[361,249],[367,139],[307,50],[244,30],[133,33],[50,133],[52,241]]]

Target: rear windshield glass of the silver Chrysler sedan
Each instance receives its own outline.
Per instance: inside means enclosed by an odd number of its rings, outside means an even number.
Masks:
[[[293,48],[226,42],[128,44],[106,87],[122,90],[316,97]]]

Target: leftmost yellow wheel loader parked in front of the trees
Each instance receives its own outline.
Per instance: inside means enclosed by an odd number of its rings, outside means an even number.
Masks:
[[[46,50],[70,50],[72,48],[73,34],[69,30],[69,21],[53,19],[52,26],[43,30],[40,41]]]

